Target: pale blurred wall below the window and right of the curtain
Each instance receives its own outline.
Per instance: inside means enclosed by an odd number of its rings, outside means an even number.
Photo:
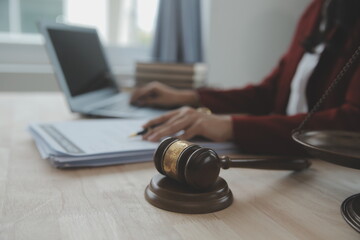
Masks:
[[[204,50],[210,66],[210,85],[243,86],[263,79],[288,47],[294,26],[309,2],[203,0]],[[0,42],[0,91],[59,90],[41,43]],[[12,54],[14,49],[20,56]],[[146,59],[144,54],[131,49],[108,51],[119,80],[130,77],[130,62]]]

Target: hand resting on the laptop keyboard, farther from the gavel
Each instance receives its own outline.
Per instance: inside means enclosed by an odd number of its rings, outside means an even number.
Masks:
[[[198,95],[193,90],[178,90],[158,82],[149,83],[136,89],[131,96],[131,104],[152,107],[196,106]]]

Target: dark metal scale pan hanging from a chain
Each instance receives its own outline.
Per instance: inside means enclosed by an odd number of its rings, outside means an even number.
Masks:
[[[360,133],[347,131],[301,131],[292,138],[313,157],[360,169]]]

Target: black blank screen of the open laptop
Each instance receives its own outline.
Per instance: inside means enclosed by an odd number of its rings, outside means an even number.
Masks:
[[[48,29],[48,33],[73,97],[115,87],[95,31]]]

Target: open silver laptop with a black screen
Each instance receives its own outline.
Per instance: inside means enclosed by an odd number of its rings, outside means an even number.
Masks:
[[[130,105],[108,64],[96,29],[39,23],[56,79],[72,112],[88,116],[151,118],[165,110]]]

